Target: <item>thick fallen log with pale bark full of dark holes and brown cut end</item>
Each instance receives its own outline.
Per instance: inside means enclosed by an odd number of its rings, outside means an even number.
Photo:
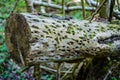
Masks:
[[[12,59],[25,65],[76,62],[120,51],[118,25],[61,17],[13,14],[7,21],[5,37]]]

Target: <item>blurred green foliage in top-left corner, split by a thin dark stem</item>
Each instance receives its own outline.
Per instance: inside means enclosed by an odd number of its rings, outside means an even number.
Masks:
[[[1,0],[0,1],[0,18],[6,19],[9,17],[10,12],[14,8],[16,0]],[[25,11],[25,3],[24,0],[19,0],[18,5],[16,6],[16,12],[24,12]]]

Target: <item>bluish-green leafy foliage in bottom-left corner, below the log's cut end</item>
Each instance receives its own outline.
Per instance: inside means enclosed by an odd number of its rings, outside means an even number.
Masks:
[[[5,66],[5,65],[6,66]],[[24,78],[24,74],[21,73],[21,74],[17,74],[17,67],[16,67],[16,64],[12,61],[10,61],[9,59],[7,59],[6,61],[4,61],[3,64],[0,65],[0,70],[1,70],[1,73],[0,73],[0,76],[3,78],[3,79],[10,79],[10,80],[25,80]],[[5,66],[6,68],[4,68],[3,66]],[[0,78],[1,79],[1,78]]]

